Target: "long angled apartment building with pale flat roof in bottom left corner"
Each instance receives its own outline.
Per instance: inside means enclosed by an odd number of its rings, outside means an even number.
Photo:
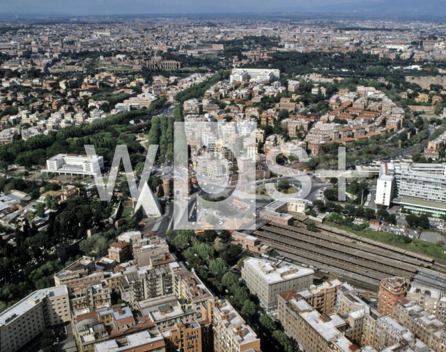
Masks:
[[[43,330],[71,320],[66,286],[34,291],[0,314],[0,350],[23,351]]]

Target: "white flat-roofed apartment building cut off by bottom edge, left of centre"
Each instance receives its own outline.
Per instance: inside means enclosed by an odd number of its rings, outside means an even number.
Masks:
[[[94,352],[167,352],[164,337],[157,330],[141,331],[94,345]]]

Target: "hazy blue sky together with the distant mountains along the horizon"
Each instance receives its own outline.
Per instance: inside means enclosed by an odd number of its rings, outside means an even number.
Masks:
[[[17,16],[283,12],[436,17],[444,22],[446,0],[1,0],[0,3],[0,15]]]

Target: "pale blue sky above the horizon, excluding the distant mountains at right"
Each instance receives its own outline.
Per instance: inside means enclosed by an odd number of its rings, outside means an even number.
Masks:
[[[355,6],[376,0],[2,0],[1,13],[119,15],[151,13],[265,13],[319,10],[337,3]]]

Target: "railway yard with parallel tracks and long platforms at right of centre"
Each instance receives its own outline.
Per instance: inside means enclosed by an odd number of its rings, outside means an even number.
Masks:
[[[257,237],[286,260],[355,282],[360,288],[377,290],[380,280],[396,275],[420,285],[435,285],[446,293],[445,262],[320,223],[316,223],[318,232],[311,232],[306,227],[308,216],[288,214],[297,226],[261,218],[257,219],[256,230],[242,232]]]

